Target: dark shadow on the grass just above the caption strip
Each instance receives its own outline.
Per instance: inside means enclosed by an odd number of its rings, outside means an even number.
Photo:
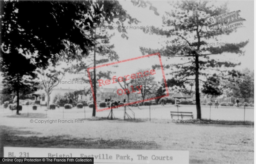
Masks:
[[[109,138],[72,138],[69,135],[62,136],[19,136],[23,133],[19,130],[0,126],[0,156],[3,157],[3,147],[46,147],[46,148],[86,148],[86,149],[160,149],[157,144],[130,144],[129,139],[112,140]],[[31,133],[31,132],[27,132]],[[106,144],[107,141],[115,141],[119,144]],[[127,141],[122,144],[120,141]],[[103,144],[105,143],[105,144]]]

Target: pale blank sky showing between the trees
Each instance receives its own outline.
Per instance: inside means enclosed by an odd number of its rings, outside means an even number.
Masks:
[[[159,16],[154,14],[153,10],[149,9],[149,5],[146,8],[133,6],[131,1],[119,1],[122,7],[127,11],[129,15],[138,19],[140,23],[138,24],[125,24],[126,26],[154,26],[162,27],[162,16],[165,15],[165,12],[172,11],[172,6],[169,4],[169,1],[150,1],[154,7],[157,8]],[[238,56],[236,54],[221,54],[215,55],[214,58],[219,58],[222,60],[241,62],[240,66],[235,67],[236,70],[242,70],[248,68],[254,70],[254,1],[212,1],[216,5],[223,5],[227,2],[227,7],[229,11],[241,10],[240,16],[245,18],[244,28],[238,28],[236,32],[232,32],[230,35],[224,35],[219,38],[219,42],[224,43],[240,43],[246,40],[249,40],[249,43],[243,48],[245,50],[244,56]],[[110,43],[114,44],[114,50],[119,56],[119,60],[135,58],[142,56],[140,52],[140,47],[157,49],[161,48],[164,44],[163,38],[157,35],[145,34],[142,30],[131,29],[127,30],[128,39],[122,38],[121,33],[116,30],[109,30],[110,33],[115,33],[111,38]],[[216,41],[215,41],[216,42]],[[179,58],[170,58],[166,60],[165,57],[162,57],[163,65],[180,63]],[[158,59],[148,59],[134,62],[127,62],[119,67],[109,68],[108,70],[116,71],[119,75],[131,74],[136,72],[139,69],[152,68],[153,64],[159,64]],[[106,69],[106,68],[105,68]],[[166,70],[166,72],[169,70]],[[80,76],[80,75],[79,75]],[[73,78],[78,77],[78,75],[66,74],[62,81],[72,81]],[[155,75],[158,81],[162,80],[161,73]],[[171,75],[167,75],[166,78],[172,78]],[[70,88],[70,89],[83,89],[88,87],[88,84],[60,84],[57,88]],[[112,87],[112,86],[111,86]]]

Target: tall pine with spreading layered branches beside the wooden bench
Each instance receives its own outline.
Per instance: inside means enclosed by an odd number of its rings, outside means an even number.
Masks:
[[[226,43],[225,45],[208,45],[212,40],[218,41],[221,35],[228,35],[232,30],[225,33],[207,31],[207,16],[228,12],[226,6],[215,7],[208,5],[207,1],[181,1],[176,3],[171,12],[163,16],[163,28],[150,30],[151,34],[166,36],[166,46],[152,50],[141,47],[143,54],[160,52],[162,56],[178,57],[183,63],[165,65],[164,68],[171,68],[172,75],[178,81],[195,81],[197,119],[201,119],[199,80],[210,75],[209,71],[221,71],[220,67],[234,67],[240,63],[219,61],[212,58],[212,55],[223,53],[236,53],[243,55],[241,50],[248,41],[241,43]],[[145,32],[148,32],[145,30]],[[219,41],[218,41],[219,42]],[[178,43],[178,45],[177,45]],[[185,43],[186,46],[181,46]],[[211,58],[210,58],[211,57]]]

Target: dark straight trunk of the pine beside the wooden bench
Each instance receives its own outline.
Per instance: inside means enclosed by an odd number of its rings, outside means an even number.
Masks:
[[[196,112],[197,119],[201,119],[201,105],[200,105],[200,93],[199,93],[199,59],[198,54],[196,54],[196,68],[195,68],[195,81],[196,81]]]

